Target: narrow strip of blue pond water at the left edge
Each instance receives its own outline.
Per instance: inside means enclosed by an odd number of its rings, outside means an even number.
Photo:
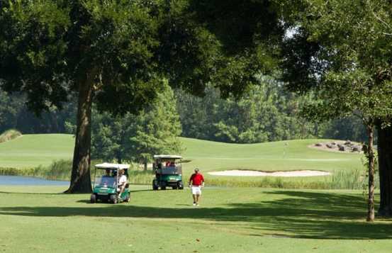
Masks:
[[[69,186],[69,181],[46,180],[31,176],[0,176],[0,185]]]

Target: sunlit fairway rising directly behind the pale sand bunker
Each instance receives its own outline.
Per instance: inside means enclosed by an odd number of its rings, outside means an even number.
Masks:
[[[315,169],[334,171],[362,167],[362,154],[315,150],[308,145],[320,140],[288,140],[258,144],[228,144],[181,138],[186,147],[185,167],[200,167],[204,172],[225,169],[285,171]]]

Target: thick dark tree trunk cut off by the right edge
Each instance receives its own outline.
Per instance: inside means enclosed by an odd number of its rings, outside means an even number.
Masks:
[[[392,216],[392,127],[377,124],[379,156],[380,207],[379,215]]]

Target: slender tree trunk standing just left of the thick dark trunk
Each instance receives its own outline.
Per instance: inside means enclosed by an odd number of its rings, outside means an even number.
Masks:
[[[369,222],[374,221],[374,150],[373,150],[373,141],[374,141],[374,130],[373,125],[367,126],[367,134],[369,138],[369,144],[367,148],[367,158],[369,165],[369,200],[368,200],[368,212],[366,220]]]

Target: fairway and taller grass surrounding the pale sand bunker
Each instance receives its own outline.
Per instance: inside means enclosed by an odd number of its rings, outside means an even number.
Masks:
[[[330,183],[331,176],[265,178],[213,176],[208,172],[230,169],[252,169],[264,172],[319,170],[332,174],[343,171],[349,175],[353,171],[361,173],[366,170],[362,164],[363,154],[331,152],[308,147],[317,142],[330,140],[287,140],[257,144],[229,144],[190,138],[181,138],[181,140],[186,147],[184,159],[191,160],[183,164],[186,178],[195,167],[198,167],[206,177],[206,181],[218,185],[335,188]]]

